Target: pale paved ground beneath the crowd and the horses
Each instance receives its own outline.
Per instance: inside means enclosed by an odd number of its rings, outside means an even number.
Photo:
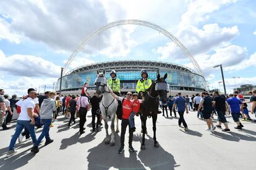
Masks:
[[[157,139],[160,148],[153,147],[151,119],[148,119],[146,150],[140,150],[140,120],[135,117],[137,131],[134,134],[135,153],[129,153],[127,145],[122,155],[117,154],[120,133],[116,134],[116,145],[105,145],[105,129],[90,132],[91,117],[88,112],[85,134],[79,136],[78,124],[67,127],[67,121],[59,118],[50,130],[54,139],[47,147],[40,146],[36,155],[30,152],[31,140],[16,145],[19,151],[11,158],[5,158],[7,146],[14,134],[12,129],[0,131],[0,169],[255,169],[256,124],[244,122],[244,130],[232,132],[208,132],[206,124],[198,120],[195,112],[186,115],[189,131],[177,126],[177,118],[158,116]],[[216,116],[215,116],[216,118]],[[255,118],[253,116],[253,118]],[[120,124],[120,122],[119,122]],[[37,136],[41,129],[36,132]],[[126,135],[126,144],[128,137]]]

